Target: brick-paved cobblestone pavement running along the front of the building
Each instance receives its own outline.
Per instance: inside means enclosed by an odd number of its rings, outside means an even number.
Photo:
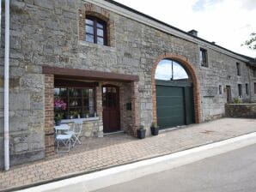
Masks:
[[[0,191],[124,165],[255,131],[256,119],[222,118],[182,129],[164,130],[144,140],[125,134],[84,139],[82,145],[72,148],[70,153],[0,171]]]

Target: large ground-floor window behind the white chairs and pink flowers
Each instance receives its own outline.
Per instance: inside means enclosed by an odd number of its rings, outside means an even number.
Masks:
[[[95,111],[94,88],[55,87],[54,98],[59,98],[67,104],[62,115],[82,117],[85,114],[92,117]]]

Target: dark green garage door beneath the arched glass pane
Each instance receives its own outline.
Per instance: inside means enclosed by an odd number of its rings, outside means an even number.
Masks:
[[[192,84],[155,81],[157,123],[160,129],[194,123]]]

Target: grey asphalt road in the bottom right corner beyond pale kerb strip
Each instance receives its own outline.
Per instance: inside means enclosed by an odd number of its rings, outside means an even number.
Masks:
[[[256,192],[256,145],[95,192]]]

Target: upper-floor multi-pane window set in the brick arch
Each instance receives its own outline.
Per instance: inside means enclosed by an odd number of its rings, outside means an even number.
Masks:
[[[85,40],[99,45],[107,45],[107,25],[96,17],[85,19]]]

